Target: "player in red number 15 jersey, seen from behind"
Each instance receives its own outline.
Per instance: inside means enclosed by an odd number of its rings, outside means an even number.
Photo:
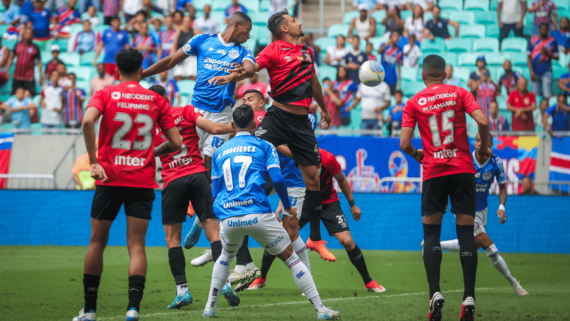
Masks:
[[[451,199],[456,217],[457,239],[463,268],[465,292],[460,320],[473,320],[475,314],[475,275],[477,245],[473,237],[475,219],[475,167],[467,140],[466,116],[479,126],[481,148],[485,157],[489,148],[489,120],[467,90],[445,85],[445,60],[437,55],[424,59],[422,77],[427,86],[406,103],[402,119],[400,148],[423,164],[422,219],[424,224],[424,265],[430,291],[429,320],[441,320],[444,304],[439,288],[441,266],[441,222]],[[412,146],[418,125],[423,149]]]

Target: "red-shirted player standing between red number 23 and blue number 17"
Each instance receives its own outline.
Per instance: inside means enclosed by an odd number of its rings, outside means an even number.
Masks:
[[[160,85],[149,88],[164,99],[166,90]],[[170,271],[176,282],[176,298],[168,309],[180,309],[192,303],[192,295],[188,292],[186,281],[186,260],[182,251],[182,223],[186,221],[188,202],[198,215],[206,237],[210,241],[211,257],[214,261],[222,253],[220,242],[220,226],[218,217],[214,214],[212,189],[210,179],[204,167],[202,154],[198,148],[200,137],[196,131],[199,127],[212,135],[223,135],[233,131],[229,124],[213,123],[195,111],[194,106],[171,108],[174,123],[182,135],[182,148],[170,154],[160,156],[162,162],[162,225],[166,234],[166,246],[168,247],[168,263]],[[162,144],[168,144],[164,133],[157,128],[157,149]]]

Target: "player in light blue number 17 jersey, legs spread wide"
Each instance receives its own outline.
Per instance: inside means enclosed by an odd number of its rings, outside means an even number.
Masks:
[[[203,316],[215,317],[218,295],[227,282],[232,260],[244,236],[249,235],[287,265],[297,287],[313,304],[320,320],[338,319],[340,312],[323,306],[311,272],[293,251],[287,232],[272,213],[265,196],[265,177],[269,174],[285,212],[297,215],[287,196],[275,147],[252,135],[255,121],[248,105],[234,110],[232,127],[235,137],[221,146],[212,159],[214,212],[220,220],[223,249],[214,264]]]

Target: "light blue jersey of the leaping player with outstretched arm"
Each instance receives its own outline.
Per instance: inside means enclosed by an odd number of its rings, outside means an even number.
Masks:
[[[192,105],[209,112],[219,113],[226,106],[235,104],[235,82],[213,86],[208,80],[228,75],[234,63],[250,60],[255,65],[251,51],[233,42],[226,43],[220,34],[200,34],[192,37],[183,47],[187,55],[198,58],[198,78],[192,95]]]

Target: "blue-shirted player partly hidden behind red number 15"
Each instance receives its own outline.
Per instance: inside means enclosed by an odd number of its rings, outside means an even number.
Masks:
[[[505,174],[503,161],[499,157],[492,155],[490,158],[482,158],[479,156],[477,150],[479,150],[480,146],[481,137],[477,134],[475,138],[476,151],[472,154],[473,164],[475,165],[476,171],[475,181],[477,193],[474,229],[475,243],[485,250],[489,260],[493,263],[493,266],[509,281],[517,295],[528,295],[528,292],[521,287],[517,279],[511,275],[511,272],[507,267],[507,263],[499,254],[497,246],[495,246],[485,230],[488,212],[487,198],[489,197],[489,189],[491,188],[491,184],[495,181],[495,178],[497,179],[497,184],[499,184],[499,202],[501,203],[497,210],[497,216],[499,217],[499,223],[503,224],[507,221],[507,215],[505,214],[505,203],[507,202],[507,175]],[[493,147],[492,137],[489,147]],[[442,241],[441,249],[459,252],[459,242],[457,240]]]

